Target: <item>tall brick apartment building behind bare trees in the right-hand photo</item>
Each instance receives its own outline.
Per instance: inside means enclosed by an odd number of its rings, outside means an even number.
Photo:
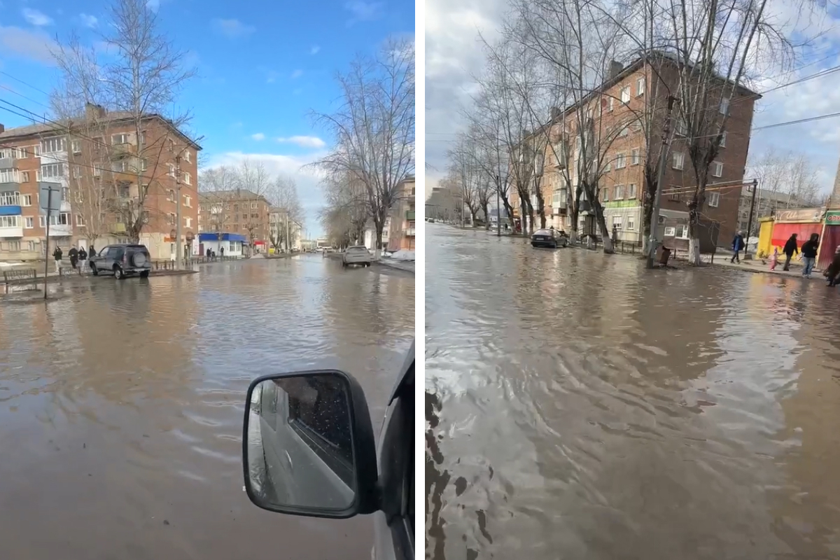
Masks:
[[[654,71],[654,64],[659,71]],[[645,137],[638,115],[648,113],[657,118],[653,120],[653,130],[657,143],[664,126],[664,107],[668,92],[679,92],[677,84],[679,71],[675,62],[665,55],[651,56],[648,60],[638,59],[631,65],[622,67],[612,63],[610,79],[601,86],[601,92],[593,94],[583,101],[591,104],[594,129],[615,131],[615,139],[604,149],[604,162],[599,196],[604,207],[606,227],[612,232],[617,229],[617,237],[629,243],[641,243],[643,238],[642,197],[644,191],[644,167],[648,154],[645,149]],[[724,100],[721,113],[728,112],[726,132],[717,160],[711,165],[710,177],[706,187],[706,202],[701,209],[704,222],[717,222],[717,244],[728,244],[738,229],[738,205],[741,198],[744,170],[747,163],[749,132],[753,121],[753,106],[760,96],[746,88],[739,88],[732,97]],[[599,106],[600,104],[600,106]],[[546,148],[544,157],[538,161],[540,191],[545,203],[547,225],[554,228],[570,229],[567,210],[567,192],[574,196],[576,185],[575,161],[577,158],[575,134],[577,106],[567,107],[564,111],[554,110],[551,121],[550,137],[556,140],[554,149]],[[675,115],[677,113],[675,112]],[[669,149],[661,194],[659,219],[659,238],[665,239],[666,245],[687,248],[688,207],[687,203],[696,184],[691,167],[690,156],[680,130],[684,125],[675,119],[675,135]],[[563,144],[567,143],[567,144]],[[603,144],[602,144],[603,145]],[[555,156],[555,150],[559,157]],[[564,173],[567,165],[563,154],[571,154],[570,177],[572,188],[566,185]],[[654,154],[654,157],[658,155]],[[715,184],[738,183],[737,186],[715,186]],[[512,189],[511,204],[514,216],[522,217],[522,204],[517,192]],[[537,217],[537,196],[532,189],[534,217]],[[578,220],[579,233],[600,235],[591,212],[591,205],[581,199]]]

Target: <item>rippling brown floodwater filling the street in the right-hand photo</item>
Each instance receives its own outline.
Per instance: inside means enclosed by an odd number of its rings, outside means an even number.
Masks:
[[[840,293],[427,228],[427,557],[840,557]]]

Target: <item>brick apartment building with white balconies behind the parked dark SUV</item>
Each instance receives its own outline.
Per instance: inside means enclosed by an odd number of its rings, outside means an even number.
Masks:
[[[99,106],[88,106],[72,123],[0,124],[0,260],[44,258],[43,183],[60,188],[60,212],[50,217],[50,253],[56,244],[66,254],[74,244],[127,243],[134,224],[151,257],[169,259],[175,256],[179,204],[189,253],[198,222],[200,149],[160,115],[134,119]]]

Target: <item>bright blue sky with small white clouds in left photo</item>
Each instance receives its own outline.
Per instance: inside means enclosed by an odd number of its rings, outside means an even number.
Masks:
[[[320,232],[318,181],[300,170],[328,149],[308,113],[329,111],[339,92],[336,71],[357,53],[373,54],[388,35],[413,37],[414,3],[406,0],[150,0],[161,30],[186,52],[198,76],[181,106],[203,136],[206,165],[249,157],[273,173],[293,175],[307,210],[307,228]],[[50,44],[72,29],[95,44],[107,24],[108,3],[79,0],[0,0],[0,99],[45,113],[56,71]],[[22,82],[25,82],[22,83]],[[12,90],[12,91],[10,91]],[[7,128],[28,124],[0,110]]]

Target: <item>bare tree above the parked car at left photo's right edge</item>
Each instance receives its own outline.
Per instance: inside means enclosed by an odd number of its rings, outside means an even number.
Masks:
[[[314,115],[337,146],[314,165],[333,177],[352,177],[365,188],[378,256],[400,184],[414,173],[413,42],[386,41],[375,58],[354,60],[338,82],[341,107]]]

